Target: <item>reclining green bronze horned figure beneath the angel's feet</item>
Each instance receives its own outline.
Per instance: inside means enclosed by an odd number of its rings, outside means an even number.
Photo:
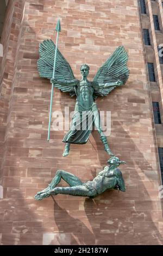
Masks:
[[[98,194],[103,193],[108,189],[126,191],[121,170],[117,167],[121,163],[118,157],[112,156],[109,161],[109,166],[99,172],[95,179],[92,181],[82,182],[77,176],[65,172],[65,170],[58,170],[54,176],[51,184],[45,190],[38,192],[35,195],[35,200],[42,200],[43,198],[57,194],[70,194],[71,196],[82,197],[96,197]],[[60,180],[63,179],[70,185],[70,187],[56,187]]]

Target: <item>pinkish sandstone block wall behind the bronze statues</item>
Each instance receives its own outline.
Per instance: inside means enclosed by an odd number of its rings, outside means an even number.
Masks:
[[[86,145],[72,145],[62,157],[65,132],[47,142],[51,84],[39,77],[39,42],[55,40],[80,77],[90,80],[119,45],[129,53],[130,78],[99,109],[111,111],[111,150],[127,161],[121,167],[127,191],[106,191],[95,199],[58,195],[36,202],[57,169],[90,180],[108,160],[97,131]],[[2,245],[152,245],[163,243],[160,169],[153,124],[139,4],[135,0],[9,1],[1,59],[1,210]],[[75,99],[55,89],[53,111],[73,110]],[[62,182],[62,185],[65,185]]]

